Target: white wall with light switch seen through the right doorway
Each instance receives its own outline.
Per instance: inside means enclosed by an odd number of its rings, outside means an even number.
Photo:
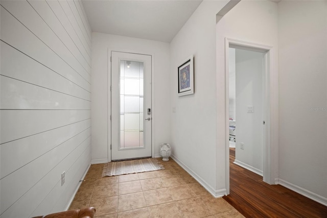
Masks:
[[[236,156],[235,163],[263,175],[264,54],[236,49]],[[253,113],[248,113],[248,106]],[[241,143],[244,149],[241,149]]]

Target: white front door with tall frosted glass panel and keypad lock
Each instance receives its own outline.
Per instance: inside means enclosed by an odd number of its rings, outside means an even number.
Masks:
[[[111,160],[151,157],[151,56],[111,52]]]

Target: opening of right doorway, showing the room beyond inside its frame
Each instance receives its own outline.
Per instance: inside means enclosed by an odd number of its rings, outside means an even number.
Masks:
[[[263,176],[264,53],[229,48],[229,148],[233,163]],[[234,149],[233,149],[234,150]]]

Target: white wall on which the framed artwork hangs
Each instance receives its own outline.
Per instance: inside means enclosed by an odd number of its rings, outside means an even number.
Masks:
[[[213,195],[225,193],[224,185],[217,190],[216,176],[216,14],[227,1],[203,1],[170,45],[172,153]],[[177,67],[194,56],[194,94],[177,97]],[[173,112],[176,111],[176,112]]]

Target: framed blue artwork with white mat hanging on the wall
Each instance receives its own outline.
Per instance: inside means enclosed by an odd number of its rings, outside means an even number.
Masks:
[[[178,96],[194,93],[193,56],[178,67]]]

